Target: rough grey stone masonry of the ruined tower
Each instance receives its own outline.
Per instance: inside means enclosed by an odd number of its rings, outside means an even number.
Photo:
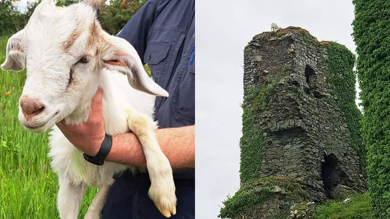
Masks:
[[[276,80],[254,115],[265,140],[259,178],[298,178],[316,202],[332,198],[337,185],[364,191],[367,181],[329,85],[327,43],[288,27],[256,35],[244,50],[244,97]]]

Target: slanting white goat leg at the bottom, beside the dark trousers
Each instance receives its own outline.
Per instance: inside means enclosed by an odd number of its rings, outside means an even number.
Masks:
[[[109,185],[102,185],[99,187],[94,200],[88,208],[87,214],[84,219],[99,219],[101,210],[103,210],[104,204],[106,203],[108,191],[110,190]]]

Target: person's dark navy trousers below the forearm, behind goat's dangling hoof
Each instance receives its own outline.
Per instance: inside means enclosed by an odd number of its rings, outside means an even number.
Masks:
[[[176,215],[172,219],[195,219],[195,180],[174,179]],[[147,173],[126,171],[112,185],[102,219],[166,219],[147,195],[150,187]]]

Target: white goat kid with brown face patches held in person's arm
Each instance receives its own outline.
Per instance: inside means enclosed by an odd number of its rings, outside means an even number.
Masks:
[[[85,218],[100,218],[113,175],[131,168],[113,162],[91,164],[55,126],[86,122],[92,97],[103,90],[107,134],[133,131],[140,140],[151,180],[149,197],[166,217],[176,214],[172,169],[156,140],[153,106],[156,95],[168,96],[142,67],[126,40],[107,34],[96,20],[105,0],[57,7],[43,0],[23,30],[7,43],[4,71],[22,71],[27,79],[19,100],[19,120],[28,130],[50,137],[51,166],[58,173],[58,210],[62,219],[76,219],[88,185],[98,186]],[[126,72],[126,76],[120,72]],[[128,81],[128,82],[126,82]],[[131,85],[131,87],[128,85]],[[37,145],[39,147],[39,145]]]

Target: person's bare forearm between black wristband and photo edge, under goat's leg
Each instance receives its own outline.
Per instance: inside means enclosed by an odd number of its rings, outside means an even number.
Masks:
[[[172,169],[195,168],[195,125],[158,129],[156,136]],[[142,145],[134,133],[112,136],[106,161],[146,167]]]

